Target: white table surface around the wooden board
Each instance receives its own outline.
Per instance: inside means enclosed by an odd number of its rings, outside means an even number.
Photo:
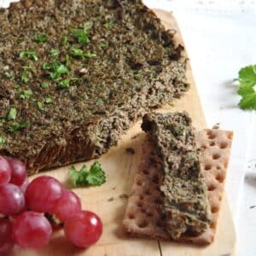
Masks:
[[[9,0],[0,0],[0,6],[7,7],[8,3]],[[235,132],[226,192],[236,224],[237,254],[256,255],[256,207],[252,207],[256,205],[256,117],[237,107],[239,96],[233,83],[241,67],[256,63],[256,1],[144,3],[151,8],[172,10],[176,16],[208,127],[220,123],[222,129]]]

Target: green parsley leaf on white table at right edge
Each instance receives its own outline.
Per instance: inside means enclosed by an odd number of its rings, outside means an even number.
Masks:
[[[238,81],[238,94],[241,96],[239,107],[256,110],[256,65],[241,68]]]

